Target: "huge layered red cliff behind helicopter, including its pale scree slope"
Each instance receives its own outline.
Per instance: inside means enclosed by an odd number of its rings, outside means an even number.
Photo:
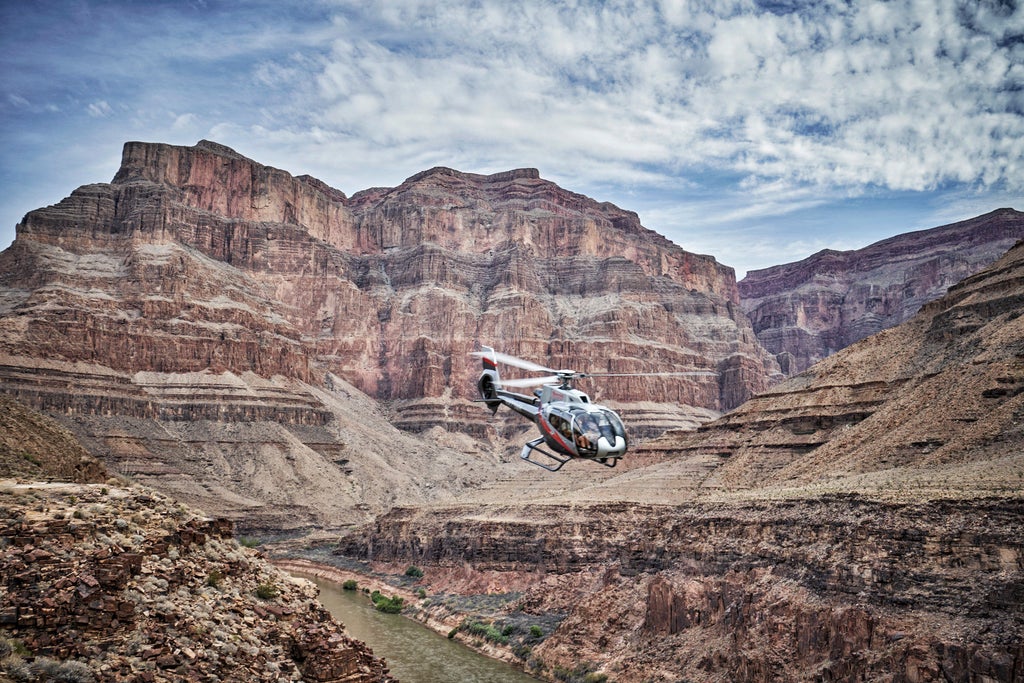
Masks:
[[[114,471],[253,529],[492,476],[504,456],[479,439],[520,423],[470,402],[478,343],[718,373],[583,387],[637,436],[779,376],[730,268],[531,169],[436,168],[347,198],[214,142],[129,142],[113,182],[30,212],[0,254],[0,390]]]

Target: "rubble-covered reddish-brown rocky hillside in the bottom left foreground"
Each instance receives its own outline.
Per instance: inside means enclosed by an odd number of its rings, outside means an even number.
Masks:
[[[385,683],[310,583],[141,487],[0,482],[5,680]]]

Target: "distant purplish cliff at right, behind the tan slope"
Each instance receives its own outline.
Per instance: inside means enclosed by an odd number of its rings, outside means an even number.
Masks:
[[[998,209],[857,251],[825,250],[753,270],[739,283],[743,311],[787,375],[909,319],[1024,239],[1024,213]]]

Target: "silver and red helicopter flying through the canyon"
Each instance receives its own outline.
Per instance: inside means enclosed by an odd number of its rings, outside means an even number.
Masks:
[[[531,420],[541,436],[522,446],[522,460],[556,472],[573,459],[595,461],[605,467],[614,467],[629,449],[629,439],[622,419],[609,408],[592,403],[590,396],[572,387],[571,382],[586,377],[635,376],[715,376],[709,371],[679,373],[578,373],[572,370],[553,370],[529,360],[481,346],[472,355],[480,358],[483,372],[477,380],[480,402],[496,414],[506,405]],[[548,373],[545,377],[503,380],[498,364],[528,372]],[[532,395],[509,391],[508,387],[541,385]],[[547,446],[545,449],[544,446]],[[536,460],[534,456],[543,456]]]

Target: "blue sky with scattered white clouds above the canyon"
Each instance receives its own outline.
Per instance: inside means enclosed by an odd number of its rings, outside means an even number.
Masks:
[[[748,269],[1024,210],[1017,0],[0,0],[0,248],[206,138],[351,195],[536,167]]]

